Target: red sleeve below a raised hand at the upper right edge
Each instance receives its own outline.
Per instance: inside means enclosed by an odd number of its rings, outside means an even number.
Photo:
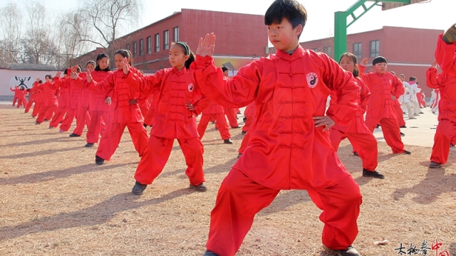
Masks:
[[[447,44],[442,40],[443,34],[437,39],[435,60],[439,63],[443,73],[456,77],[456,42]]]

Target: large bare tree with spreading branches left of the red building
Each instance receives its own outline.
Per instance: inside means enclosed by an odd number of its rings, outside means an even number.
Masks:
[[[75,31],[80,33],[81,41],[105,48],[112,58],[118,50],[116,39],[128,26],[139,21],[142,0],[83,0],[80,3],[81,22],[73,22]],[[89,27],[81,29],[82,23]]]

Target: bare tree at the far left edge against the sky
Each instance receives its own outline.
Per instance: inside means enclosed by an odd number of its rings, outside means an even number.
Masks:
[[[21,60],[21,10],[9,2],[0,9],[0,66],[18,63]]]

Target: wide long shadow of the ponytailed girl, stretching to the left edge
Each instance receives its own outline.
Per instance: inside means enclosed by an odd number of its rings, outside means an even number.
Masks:
[[[88,208],[75,210],[70,213],[59,213],[58,215],[37,218],[19,225],[2,227],[0,228],[0,240],[9,240],[23,235],[44,233],[53,230],[61,230],[63,228],[100,225],[108,222],[113,219],[117,213],[125,210],[156,205],[180,196],[189,195],[190,193],[194,193],[191,188],[181,188],[177,191],[167,193],[160,198],[152,198],[141,202],[136,201],[140,198],[139,196],[133,196],[131,193],[121,193]]]

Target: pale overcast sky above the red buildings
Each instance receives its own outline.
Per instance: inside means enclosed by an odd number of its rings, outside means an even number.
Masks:
[[[1,0],[0,7],[11,0]],[[309,18],[304,28],[301,41],[311,41],[333,36],[334,12],[346,11],[356,0],[299,0],[306,7]],[[16,1],[24,5],[24,0]],[[22,4],[21,4],[22,3]],[[68,10],[77,6],[76,0],[43,0],[41,3],[48,13]],[[147,26],[162,18],[172,15],[180,9],[201,9],[210,11],[227,11],[243,14],[264,15],[272,3],[271,0],[143,0],[142,21],[132,28]],[[170,4],[168,4],[170,3]],[[367,3],[369,4],[369,3]],[[348,33],[358,33],[379,29],[382,26],[403,26],[408,28],[432,28],[446,30],[456,23],[455,0],[431,0],[421,4],[411,4],[397,9],[382,11],[375,6],[348,28]],[[266,29],[266,28],[265,28]],[[208,31],[210,32],[210,31]],[[404,38],[413,40],[413,38]]]

